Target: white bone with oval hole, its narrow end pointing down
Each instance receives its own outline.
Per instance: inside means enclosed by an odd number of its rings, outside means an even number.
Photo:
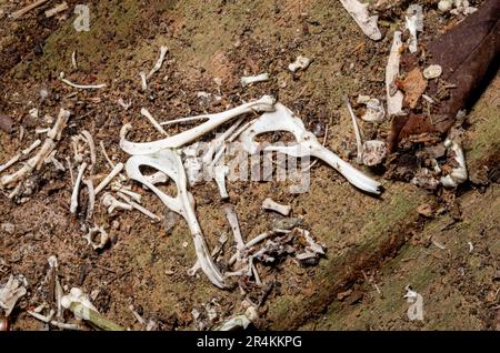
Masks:
[[[141,165],[149,165],[170,176],[177,185],[177,196],[171,198],[150,183],[141,173]],[[224,289],[224,279],[210,256],[203,233],[198,223],[194,212],[194,200],[188,191],[188,181],[179,153],[172,150],[163,150],[149,155],[133,155],[127,161],[126,170],[130,179],[148,186],[160,198],[168,209],[186,219],[192,234],[194,250],[201,269],[214,285]]]

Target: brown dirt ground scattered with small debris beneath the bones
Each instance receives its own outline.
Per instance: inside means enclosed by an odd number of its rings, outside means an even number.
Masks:
[[[13,120],[10,133],[0,130],[0,161],[38,139],[36,129],[50,124],[60,108],[72,112],[58,144],[58,159],[72,157],[70,137],[83,129],[103,141],[114,161],[128,155],[119,148],[124,123],[134,127],[130,139],[152,141],[161,135],[140,114],[146,107],[159,120],[217,112],[262,94],[272,94],[302,118],[308,129],[346,160],[354,161],[356,141],[342,94],[384,99],[384,68],[392,32],[410,2],[392,1],[380,13],[381,41],[366,38],[338,1],[192,0],[86,1],[89,32],[72,27],[72,9],[51,19],[49,1],[20,20],[8,14],[28,1],[0,1],[0,113]],[[391,1],[388,1],[391,2]],[[426,10],[422,41],[452,28],[457,19],[441,16],[437,1],[417,1]],[[479,6],[481,1],[471,1]],[[162,69],[142,91],[139,72],[169,52]],[[76,51],[78,69],[71,65]],[[303,72],[287,67],[298,54],[312,58]],[[77,91],[58,80],[59,72],[74,82],[107,83],[106,89]],[[248,88],[246,74],[269,72],[271,80]],[[220,79],[220,85],[216,82]],[[47,97],[40,91],[47,90]],[[220,94],[221,101],[201,102],[197,92]],[[131,102],[124,110],[118,100]],[[29,111],[37,108],[39,119]],[[367,138],[387,138],[390,122],[363,123]],[[281,216],[260,205],[271,196],[292,205],[302,226],[328,248],[317,266],[291,259],[278,266],[258,265],[264,290],[249,288],[249,296],[267,296],[254,322],[262,330],[499,330],[500,329],[500,78],[496,75],[466,119],[464,152],[471,181],[457,190],[431,193],[410,183],[381,180],[386,192],[371,198],[350,186],[321,163],[311,171],[308,193],[291,194],[288,185],[271,182],[228,184],[243,236],[249,240],[270,229]],[[21,128],[24,130],[20,140]],[[169,132],[174,133],[173,127]],[[210,138],[207,137],[207,138]],[[276,137],[271,137],[276,138]],[[98,148],[92,173],[100,181],[110,168]],[[77,171],[73,164],[73,172]],[[370,172],[367,170],[367,172]],[[482,179],[480,176],[483,176]],[[478,181],[481,179],[480,181]],[[64,288],[93,293],[93,303],[108,319],[136,330],[129,305],[159,330],[196,330],[192,310],[216,307],[216,323],[241,313],[246,297],[238,289],[222,291],[202,274],[191,278],[194,264],[191,234],[183,220],[166,231],[139,212],[108,214],[100,202],[93,222],[104,225],[111,245],[96,252],[83,239],[83,212],[70,214],[68,170],[47,164],[31,178],[23,198],[0,195],[0,283],[10,273],[23,274],[28,293],[12,313],[13,330],[46,330],[27,314],[50,302],[47,259],[57,255]],[[134,184],[142,204],[167,214],[152,193]],[[31,190],[27,190],[31,189]],[[197,215],[210,246],[230,234],[214,183],[193,188]],[[84,193],[81,195],[83,201]],[[24,199],[24,200],[22,200]],[[441,209],[426,218],[421,205]],[[172,215],[168,214],[167,219]],[[184,246],[184,243],[188,246]],[[469,242],[472,246],[469,245]],[[230,256],[227,246],[224,256]],[[423,321],[410,321],[406,286],[423,297]],[[269,291],[268,291],[269,290]]]

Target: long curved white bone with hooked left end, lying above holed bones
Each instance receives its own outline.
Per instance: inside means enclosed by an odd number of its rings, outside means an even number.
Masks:
[[[204,135],[206,133],[212,131],[217,127],[223,124],[224,122],[228,122],[229,120],[238,115],[254,111],[272,111],[274,99],[269,95],[263,95],[257,101],[242,104],[221,113],[200,115],[208,119],[208,121],[190,130],[183,131],[163,140],[138,143],[126,140],[124,135],[122,134],[120,139],[120,147],[123,151],[132,155],[156,153],[169,148],[180,148]]]

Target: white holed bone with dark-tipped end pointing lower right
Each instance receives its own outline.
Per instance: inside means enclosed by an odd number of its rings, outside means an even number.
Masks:
[[[270,131],[288,131],[296,139],[297,144],[290,147],[267,147],[264,151],[282,152],[296,158],[308,155],[316,157],[330,164],[339,173],[341,173],[351,184],[360,190],[373,194],[382,192],[381,184],[373,179],[367,176],[361,171],[353,168],[348,162],[341,160],[337,154],[321,145],[318,139],[310,131],[307,131],[303,122],[293,115],[293,113],[281,103],[274,104],[274,112],[266,112],[256,120],[240,137],[243,148],[251,154],[258,151],[258,143],[254,138],[263,132]]]

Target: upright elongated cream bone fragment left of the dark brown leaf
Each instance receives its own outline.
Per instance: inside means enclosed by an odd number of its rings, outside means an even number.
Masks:
[[[394,80],[399,77],[399,61],[401,60],[402,48],[401,32],[396,31],[386,67],[387,113],[389,115],[399,115],[402,113],[404,95],[394,85]]]

